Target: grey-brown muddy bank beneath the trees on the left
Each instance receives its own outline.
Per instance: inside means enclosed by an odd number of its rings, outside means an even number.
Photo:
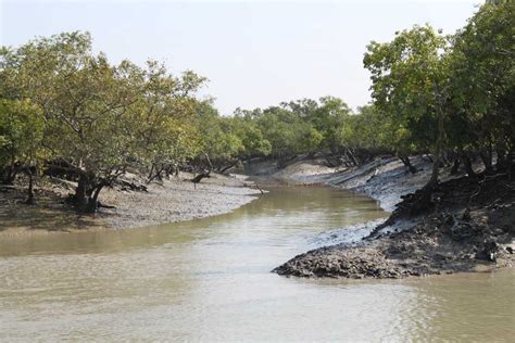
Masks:
[[[25,205],[21,186],[0,191],[0,238],[136,228],[198,219],[231,212],[261,194],[241,177],[213,175],[193,188],[189,174],[147,185],[147,191],[106,188],[96,215],[78,215],[65,202],[75,183],[45,179],[36,186],[37,204]]]

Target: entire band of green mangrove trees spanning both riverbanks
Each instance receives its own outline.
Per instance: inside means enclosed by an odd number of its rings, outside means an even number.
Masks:
[[[113,65],[85,33],[0,50],[0,178],[59,175],[77,181],[77,209],[95,212],[102,188],[127,170],[150,181],[178,168],[224,172],[252,157],[286,162],[325,153],[359,165],[378,154],[472,158],[511,173],[515,142],[513,1],[488,1],[455,35],[430,26],[370,42],[364,66],[374,102],[353,113],[340,99],[299,100],[221,116],[197,96],[205,78],[163,64]],[[497,161],[494,165],[493,161]],[[456,166],[456,168],[457,168]],[[205,170],[204,170],[205,172]]]

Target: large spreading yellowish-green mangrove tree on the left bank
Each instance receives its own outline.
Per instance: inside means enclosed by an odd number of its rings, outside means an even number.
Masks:
[[[79,175],[80,203],[85,196],[96,202],[98,191],[129,164],[145,169],[185,161],[200,144],[191,119],[194,92],[205,79],[192,72],[174,77],[154,61],[146,67],[128,61],[111,65],[91,51],[89,34],[61,34],[2,49],[0,79],[2,99],[29,99],[40,110],[49,160],[66,161]],[[25,120],[25,111],[3,112]]]

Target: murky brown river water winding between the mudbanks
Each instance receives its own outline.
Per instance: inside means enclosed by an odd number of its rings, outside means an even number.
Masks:
[[[279,188],[212,218],[2,241],[0,341],[515,340],[513,269],[359,281],[269,272],[385,215],[346,191]]]

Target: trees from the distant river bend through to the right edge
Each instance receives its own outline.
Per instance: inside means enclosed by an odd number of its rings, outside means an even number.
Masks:
[[[390,42],[370,42],[363,62],[372,74],[374,101],[357,113],[328,97],[237,110],[234,117],[219,118],[233,157],[267,154],[288,160],[326,152],[357,165],[392,153],[415,173],[409,156],[427,154],[435,165],[428,186],[438,181],[443,164],[452,163],[454,169],[463,165],[474,177],[475,158],[482,161],[487,174],[511,173],[514,9],[514,1],[488,1],[452,36],[426,25],[398,31]],[[213,155],[221,156],[215,151]]]

